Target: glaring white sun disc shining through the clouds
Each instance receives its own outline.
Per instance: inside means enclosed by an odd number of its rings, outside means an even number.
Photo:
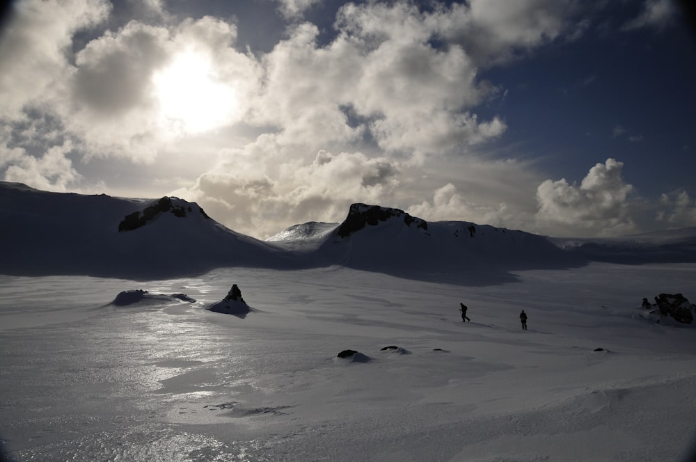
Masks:
[[[159,123],[167,129],[198,134],[232,122],[237,91],[216,76],[211,58],[191,51],[152,78],[159,103]]]

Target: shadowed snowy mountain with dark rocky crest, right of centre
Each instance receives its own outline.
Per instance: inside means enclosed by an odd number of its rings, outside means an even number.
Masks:
[[[282,241],[276,241],[276,243]],[[428,280],[505,278],[508,271],[580,266],[545,237],[465,221],[427,222],[400,209],[353,204],[315,252],[354,269]],[[320,260],[320,259],[317,259]]]

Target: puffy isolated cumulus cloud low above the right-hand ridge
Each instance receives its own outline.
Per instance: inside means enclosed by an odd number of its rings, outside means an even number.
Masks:
[[[624,183],[624,164],[607,159],[596,164],[580,185],[546,180],[537,188],[537,223],[564,236],[626,234],[636,230],[631,217],[631,184]]]

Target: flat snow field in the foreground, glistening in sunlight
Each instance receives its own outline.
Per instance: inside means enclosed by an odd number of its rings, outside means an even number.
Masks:
[[[17,461],[676,461],[696,435],[696,330],[638,314],[644,296],[693,298],[695,275],[0,276],[0,434]],[[232,283],[244,319],[205,309]],[[197,301],[110,304],[132,289]]]

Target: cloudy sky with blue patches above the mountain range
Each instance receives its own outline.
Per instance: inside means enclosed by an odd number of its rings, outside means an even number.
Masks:
[[[266,239],[353,202],[560,237],[696,226],[670,0],[13,2],[0,180]]]

